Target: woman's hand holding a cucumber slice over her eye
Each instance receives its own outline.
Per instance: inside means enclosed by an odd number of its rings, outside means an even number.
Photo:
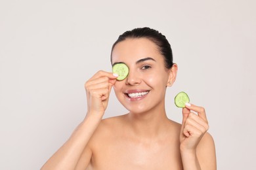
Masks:
[[[87,82],[85,90],[87,93],[87,114],[95,112],[103,116],[112,86],[116,83],[118,75],[106,71],[98,71]]]

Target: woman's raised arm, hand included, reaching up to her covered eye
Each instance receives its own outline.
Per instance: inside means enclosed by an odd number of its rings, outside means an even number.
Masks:
[[[102,120],[102,116],[108,105],[110,90],[116,82],[116,77],[112,73],[98,71],[98,73],[85,83],[87,92],[87,116],[75,129],[74,133],[72,133],[70,139],[43,165],[42,170],[75,169],[87,143]],[[89,164],[92,152],[86,153],[89,155],[86,156],[87,160],[84,160],[84,162],[85,164]]]

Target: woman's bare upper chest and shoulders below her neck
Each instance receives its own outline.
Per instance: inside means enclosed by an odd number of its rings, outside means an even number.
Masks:
[[[182,169],[181,125],[167,120],[158,133],[140,133],[129,114],[102,121],[89,143],[93,169]],[[163,129],[162,129],[163,128]],[[115,131],[115,133],[113,133]],[[142,131],[140,131],[142,132]],[[105,141],[104,144],[100,141]]]

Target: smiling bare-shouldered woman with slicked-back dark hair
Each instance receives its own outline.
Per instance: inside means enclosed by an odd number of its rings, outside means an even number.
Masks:
[[[125,63],[129,75],[119,81],[98,71],[85,83],[87,115],[42,169],[216,169],[205,110],[186,103],[182,124],[166,116],[177,65],[165,36],[148,27],[127,31],[111,62]],[[129,113],[102,120],[112,88]]]

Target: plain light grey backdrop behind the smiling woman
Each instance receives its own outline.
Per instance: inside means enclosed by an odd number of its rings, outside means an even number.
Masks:
[[[255,1],[0,1],[0,169],[39,169],[86,114],[85,81],[111,71],[119,34],[166,35],[179,65],[167,90],[207,110],[218,169],[256,169]],[[114,92],[105,118],[127,112]]]

